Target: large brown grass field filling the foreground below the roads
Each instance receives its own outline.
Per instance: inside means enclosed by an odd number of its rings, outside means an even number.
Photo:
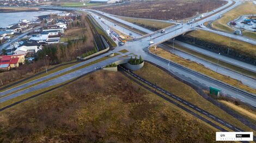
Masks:
[[[4,142],[212,142],[216,131],[123,74],[102,70],[6,109],[0,119]]]

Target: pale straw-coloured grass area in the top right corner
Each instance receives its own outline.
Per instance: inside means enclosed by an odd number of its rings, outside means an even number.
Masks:
[[[253,2],[244,2],[241,5],[236,6],[234,9],[226,12],[222,15],[222,18],[217,19],[217,21],[212,22],[212,28],[232,32],[233,29],[230,28],[227,23],[229,21],[232,21],[233,19],[241,16],[241,15],[248,15],[248,14],[256,14],[256,5],[253,4]],[[251,34],[248,34],[248,32],[242,32],[245,36],[255,38],[256,33],[251,32]]]

